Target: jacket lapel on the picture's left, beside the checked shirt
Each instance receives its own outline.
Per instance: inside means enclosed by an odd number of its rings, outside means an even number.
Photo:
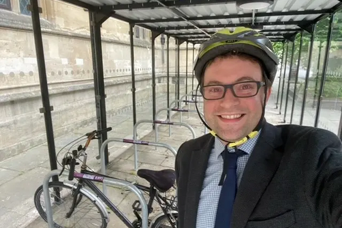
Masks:
[[[185,206],[184,227],[196,227],[196,218],[202,184],[215,138],[210,135],[202,149],[192,151],[187,182],[187,199]]]

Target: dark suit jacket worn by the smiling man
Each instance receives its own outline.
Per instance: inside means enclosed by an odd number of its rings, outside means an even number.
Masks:
[[[210,134],[189,140],[176,155],[177,228],[196,227],[198,202],[213,142]],[[231,225],[232,228],[341,228],[339,138],[324,129],[266,123],[246,164]]]

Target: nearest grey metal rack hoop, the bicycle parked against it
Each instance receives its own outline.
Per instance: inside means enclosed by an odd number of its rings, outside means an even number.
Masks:
[[[101,147],[102,149],[102,147]],[[105,160],[102,159],[105,155],[105,150],[103,149],[101,153],[101,162],[103,161],[103,164],[105,164]],[[45,210],[47,213],[47,223],[49,228],[53,228],[53,216],[52,216],[52,210],[51,210],[51,200],[50,200],[50,194],[49,194],[49,180],[51,177],[55,175],[60,175],[61,170],[51,170],[47,175],[44,177],[44,182],[43,182],[43,191],[44,191],[44,200],[45,200]],[[103,186],[106,184],[112,185],[112,186],[124,186],[129,188],[131,192],[137,195],[137,198],[140,201],[140,204],[142,205],[142,228],[148,228],[148,208],[147,208],[147,203],[144,198],[144,195],[140,190],[135,187],[133,184],[131,184],[128,181],[123,181],[120,179],[114,179],[114,178],[108,178],[108,177],[101,177]]]

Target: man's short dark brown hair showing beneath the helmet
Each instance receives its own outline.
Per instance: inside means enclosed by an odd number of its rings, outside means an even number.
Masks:
[[[261,67],[261,73],[263,74],[263,81],[265,81],[266,83],[266,87],[267,88],[271,88],[272,87],[272,81],[269,80],[269,78],[267,77],[267,73],[265,71],[265,66],[263,64],[263,62],[261,62],[261,60],[259,60],[258,58],[255,58],[252,55],[248,55],[246,53],[242,53],[242,52],[238,52],[238,51],[229,51],[227,53],[224,53],[223,55],[218,55],[217,57],[213,58],[212,60],[209,60],[206,64],[205,67],[203,68],[203,73],[202,73],[202,80],[200,82],[200,86],[203,86],[204,84],[204,77],[205,77],[205,69],[210,66],[214,61],[216,60],[224,60],[226,58],[232,58],[232,57],[237,57],[240,60],[248,60],[250,62],[254,62],[259,64],[259,66]]]

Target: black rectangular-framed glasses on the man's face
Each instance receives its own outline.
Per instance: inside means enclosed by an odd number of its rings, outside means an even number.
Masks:
[[[259,92],[264,81],[241,81],[228,85],[209,85],[201,88],[201,93],[206,100],[218,100],[224,98],[226,91],[230,88],[235,97],[254,97]]]

